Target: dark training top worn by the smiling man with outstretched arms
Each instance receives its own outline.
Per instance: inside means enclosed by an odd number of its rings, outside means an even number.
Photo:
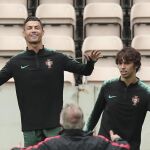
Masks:
[[[0,85],[15,80],[22,130],[55,128],[63,105],[64,71],[90,75],[94,62],[81,64],[56,51],[26,50],[12,57],[0,71]]]

